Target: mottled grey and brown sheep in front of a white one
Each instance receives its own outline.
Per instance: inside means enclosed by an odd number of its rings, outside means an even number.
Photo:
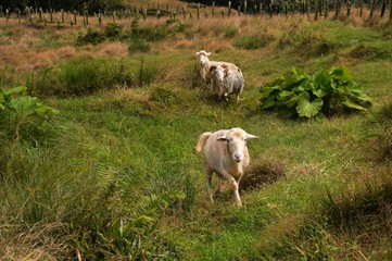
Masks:
[[[212,90],[218,95],[219,99],[228,100],[228,95],[236,95],[236,103],[240,100],[244,87],[244,79],[239,67],[229,69],[225,64],[210,67],[212,75]]]

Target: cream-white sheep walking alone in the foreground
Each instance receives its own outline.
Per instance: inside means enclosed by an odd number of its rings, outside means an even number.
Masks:
[[[257,137],[239,127],[200,135],[197,151],[201,152],[204,149],[204,172],[211,201],[214,201],[211,182],[215,172],[219,177],[217,190],[220,190],[222,181],[227,181],[237,206],[242,206],[238,189],[243,172],[250,162],[246,140],[252,138]]]

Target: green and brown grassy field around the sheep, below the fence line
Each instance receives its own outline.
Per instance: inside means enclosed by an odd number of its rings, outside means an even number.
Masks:
[[[37,119],[24,103],[0,108],[4,260],[392,258],[384,21],[149,18],[59,29],[0,18],[0,87],[26,86],[59,110]],[[201,49],[243,70],[238,105],[200,80]],[[338,65],[374,99],[368,113],[304,120],[260,109],[261,86],[278,75]],[[200,134],[235,126],[260,136],[249,142],[242,208],[226,187],[208,201],[195,152]]]

